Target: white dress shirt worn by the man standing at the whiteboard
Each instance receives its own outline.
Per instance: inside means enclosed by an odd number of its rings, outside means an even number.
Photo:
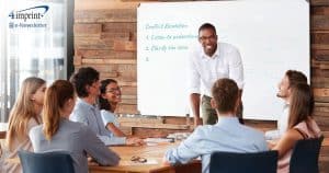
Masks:
[[[243,88],[243,66],[239,50],[232,45],[218,43],[215,54],[209,57],[203,48],[191,54],[189,58],[190,93],[212,96],[212,86],[216,80],[229,78]]]

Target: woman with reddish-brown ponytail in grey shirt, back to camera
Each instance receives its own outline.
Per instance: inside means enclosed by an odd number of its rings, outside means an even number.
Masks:
[[[57,80],[47,89],[44,124],[30,131],[34,151],[68,151],[78,173],[88,173],[87,154],[101,165],[118,164],[118,155],[105,147],[89,127],[68,119],[75,104],[75,89],[70,82]]]

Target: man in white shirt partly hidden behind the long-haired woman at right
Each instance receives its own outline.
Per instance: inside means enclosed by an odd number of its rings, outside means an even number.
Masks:
[[[307,84],[307,78],[303,72],[297,70],[287,70],[279,83],[276,96],[284,101],[283,113],[277,119],[277,129],[265,132],[266,139],[279,139],[286,131],[288,125],[290,97],[292,93],[291,89],[298,83]]]

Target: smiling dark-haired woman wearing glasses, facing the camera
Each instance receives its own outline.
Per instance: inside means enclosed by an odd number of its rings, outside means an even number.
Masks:
[[[99,97],[100,109],[104,126],[117,137],[125,137],[125,134],[118,128],[114,111],[121,102],[121,90],[117,82],[113,79],[101,81],[101,95]]]

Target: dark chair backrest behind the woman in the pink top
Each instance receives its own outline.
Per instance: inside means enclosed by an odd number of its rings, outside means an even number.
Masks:
[[[324,136],[298,140],[293,149],[290,173],[318,173],[318,159]]]

